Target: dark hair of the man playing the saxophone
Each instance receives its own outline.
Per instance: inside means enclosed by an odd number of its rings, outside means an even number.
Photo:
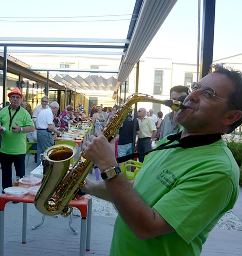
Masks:
[[[213,64],[210,66],[209,73],[220,73],[226,75],[230,81],[233,82],[234,89],[229,94],[228,101],[232,102],[233,104],[228,103],[229,109],[239,109],[242,111],[242,73],[240,70],[235,70],[233,67],[226,66],[225,63],[220,64]],[[242,123],[242,116],[241,118],[231,124],[228,133],[233,132],[235,128],[240,126]]]

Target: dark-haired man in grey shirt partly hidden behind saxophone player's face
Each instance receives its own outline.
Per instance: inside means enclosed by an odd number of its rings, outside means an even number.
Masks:
[[[170,89],[170,99],[177,100],[180,96],[188,95],[188,88],[186,86],[177,85]],[[162,140],[165,136],[171,133],[178,133],[179,126],[174,122],[174,111],[164,116],[161,124],[161,133],[159,140]]]

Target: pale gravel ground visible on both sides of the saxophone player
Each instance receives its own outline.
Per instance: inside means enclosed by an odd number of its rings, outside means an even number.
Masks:
[[[118,212],[113,203],[93,196],[92,215],[117,217]],[[242,221],[232,211],[228,211],[215,225],[215,228],[242,231]]]

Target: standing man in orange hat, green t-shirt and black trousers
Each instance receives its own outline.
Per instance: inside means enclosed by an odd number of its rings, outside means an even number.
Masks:
[[[8,97],[10,106],[0,111],[2,190],[12,187],[12,163],[17,176],[25,175],[26,133],[34,132],[28,111],[20,106],[23,95],[19,88],[14,88]]]

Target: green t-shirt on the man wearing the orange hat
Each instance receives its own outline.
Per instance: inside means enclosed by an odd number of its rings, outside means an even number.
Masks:
[[[10,111],[11,116],[13,116],[16,110]],[[6,128],[6,131],[1,133],[2,143],[0,152],[9,155],[26,154],[26,133],[13,133],[11,128],[9,130],[9,121],[8,107],[5,107],[0,111],[0,124]],[[14,116],[12,126],[16,126],[15,123],[19,124],[20,127],[34,126],[30,114],[22,107]]]

